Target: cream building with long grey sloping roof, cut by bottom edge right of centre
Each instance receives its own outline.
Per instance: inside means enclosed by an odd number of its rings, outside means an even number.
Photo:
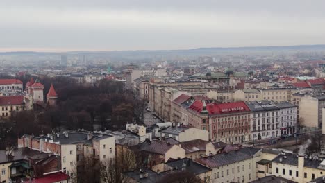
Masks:
[[[210,179],[212,183],[230,183],[256,180],[256,162],[260,159],[260,149],[247,147],[196,159],[195,162],[213,169]]]

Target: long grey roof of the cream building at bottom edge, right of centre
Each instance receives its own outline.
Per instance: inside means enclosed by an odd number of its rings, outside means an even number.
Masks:
[[[254,155],[256,155],[256,153],[258,153],[258,151],[260,151],[259,148],[240,148],[238,150],[231,150],[228,153],[196,159],[195,161],[210,168],[216,168],[219,166],[233,164],[235,162],[241,162],[246,159],[251,159]]]

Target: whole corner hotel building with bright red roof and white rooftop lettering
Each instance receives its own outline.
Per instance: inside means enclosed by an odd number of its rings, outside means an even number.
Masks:
[[[197,100],[188,107],[189,125],[208,130],[209,139],[240,143],[251,136],[251,111],[240,101],[215,103]]]

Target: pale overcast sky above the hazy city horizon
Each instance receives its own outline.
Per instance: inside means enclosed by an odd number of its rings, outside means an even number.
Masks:
[[[325,44],[325,1],[1,0],[0,51]]]

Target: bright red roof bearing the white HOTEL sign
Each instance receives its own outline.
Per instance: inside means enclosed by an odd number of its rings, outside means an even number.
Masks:
[[[203,110],[203,102],[195,101],[189,107],[189,110],[194,112],[201,112]],[[209,114],[227,114],[233,112],[249,112],[249,107],[247,107],[246,103],[243,101],[235,102],[235,103],[207,103],[206,110],[208,110]]]

